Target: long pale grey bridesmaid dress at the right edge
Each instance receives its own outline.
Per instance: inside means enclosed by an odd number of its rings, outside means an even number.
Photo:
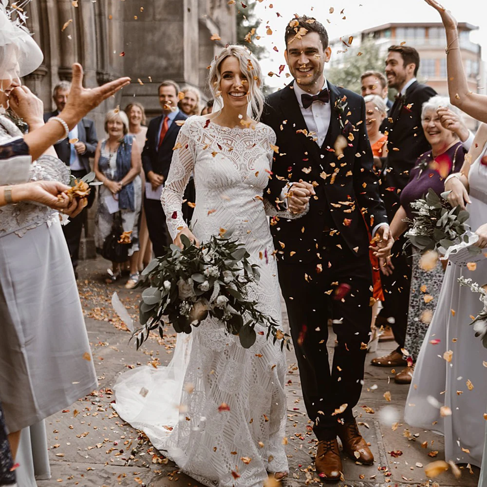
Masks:
[[[473,231],[487,223],[487,166],[480,163],[486,153],[487,144],[468,173],[472,202],[467,206],[468,224]],[[460,286],[460,276],[486,284],[487,259],[477,262],[475,270],[448,265],[414,368],[404,419],[412,426],[444,434],[447,460],[480,467],[486,428],[487,350],[468,323],[483,305],[478,294]],[[441,341],[431,344],[432,339]],[[451,361],[443,356],[448,351],[452,352]],[[439,406],[449,407],[451,415],[442,417]]]

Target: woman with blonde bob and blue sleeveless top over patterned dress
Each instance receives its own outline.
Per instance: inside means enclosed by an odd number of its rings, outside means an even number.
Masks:
[[[95,217],[94,240],[99,252],[110,235],[114,217],[120,212],[124,232],[131,232],[130,278],[139,281],[139,241],[137,221],[142,205],[140,150],[133,135],[129,135],[129,119],[125,112],[110,110],[105,116],[108,138],[98,143],[94,156],[94,172],[100,186]],[[107,283],[121,277],[120,264],[112,262]],[[133,287],[133,286],[132,286]]]

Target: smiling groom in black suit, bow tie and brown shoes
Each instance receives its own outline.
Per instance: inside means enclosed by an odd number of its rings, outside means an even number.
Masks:
[[[318,438],[316,468],[325,480],[338,481],[343,469],[337,436],[354,461],[374,462],[352,413],[371,325],[367,230],[377,246],[390,248],[393,240],[372,170],[363,98],[323,74],[331,55],[326,29],[316,19],[296,17],[285,41],[294,80],[268,96],[262,115],[279,147],[264,194],[282,208],[293,189],[314,187],[305,216],[271,223],[304,403]],[[303,183],[285,186],[291,179]],[[329,319],[338,340],[331,370]]]

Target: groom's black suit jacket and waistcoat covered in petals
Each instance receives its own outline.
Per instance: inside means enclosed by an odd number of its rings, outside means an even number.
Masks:
[[[292,85],[266,98],[261,120],[276,132],[279,154],[275,154],[273,175],[264,195],[276,204],[287,181],[303,179],[317,184],[316,197],[311,199],[305,216],[296,220],[281,219],[271,227],[275,248],[286,263],[312,262],[319,259],[317,253],[324,232],[331,228],[340,232],[353,255],[368,258],[366,225],[372,230],[379,223],[387,223],[387,216],[373,171],[363,98],[328,82],[331,120],[326,139],[322,147],[318,147],[312,137],[306,135],[307,127]],[[338,106],[344,97],[341,104],[348,105],[340,115]],[[340,116],[344,128],[340,125]],[[348,143],[340,158],[334,150],[339,135]],[[280,242],[285,244],[282,250]]]

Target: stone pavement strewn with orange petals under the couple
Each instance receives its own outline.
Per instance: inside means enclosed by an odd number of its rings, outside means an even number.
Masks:
[[[66,486],[200,486],[181,474],[177,466],[156,451],[147,438],[125,424],[111,408],[113,384],[121,373],[142,364],[167,364],[175,344],[175,336],[152,339],[136,351],[128,343],[130,334],[112,311],[114,290],[134,317],[138,315],[140,290],[128,291],[122,283],[104,283],[107,262],[84,261],[79,267],[79,292],[92,345],[99,389],[70,408],[46,420],[52,479],[39,481],[39,487]],[[287,319],[285,313],[283,319]],[[331,329],[330,329],[331,330]],[[330,359],[334,337],[328,341]],[[393,349],[393,343],[381,344],[378,354]],[[373,355],[369,354],[370,357]],[[285,486],[299,487],[320,484],[313,471],[316,452],[315,437],[305,415],[300,377],[294,352],[287,352],[288,426],[286,446],[290,474]],[[393,382],[391,369],[372,367],[367,359],[365,384],[355,408],[362,434],[371,444],[375,456],[373,466],[356,464],[344,458],[344,482],[337,486],[432,486],[424,473],[430,461],[444,459],[442,438],[429,431],[409,427],[402,419],[408,386]],[[387,402],[384,393],[391,394]],[[385,409],[387,408],[387,409]],[[389,423],[381,422],[381,418]],[[392,423],[396,423],[391,426]],[[482,425],[483,427],[483,425]],[[427,442],[427,443],[425,443]],[[437,451],[435,458],[428,453]],[[391,452],[395,452],[393,456]],[[402,453],[401,453],[402,452]],[[434,482],[441,486],[476,486],[478,468],[469,472],[462,468],[460,479],[450,471]],[[20,486],[19,486],[20,487]]]

